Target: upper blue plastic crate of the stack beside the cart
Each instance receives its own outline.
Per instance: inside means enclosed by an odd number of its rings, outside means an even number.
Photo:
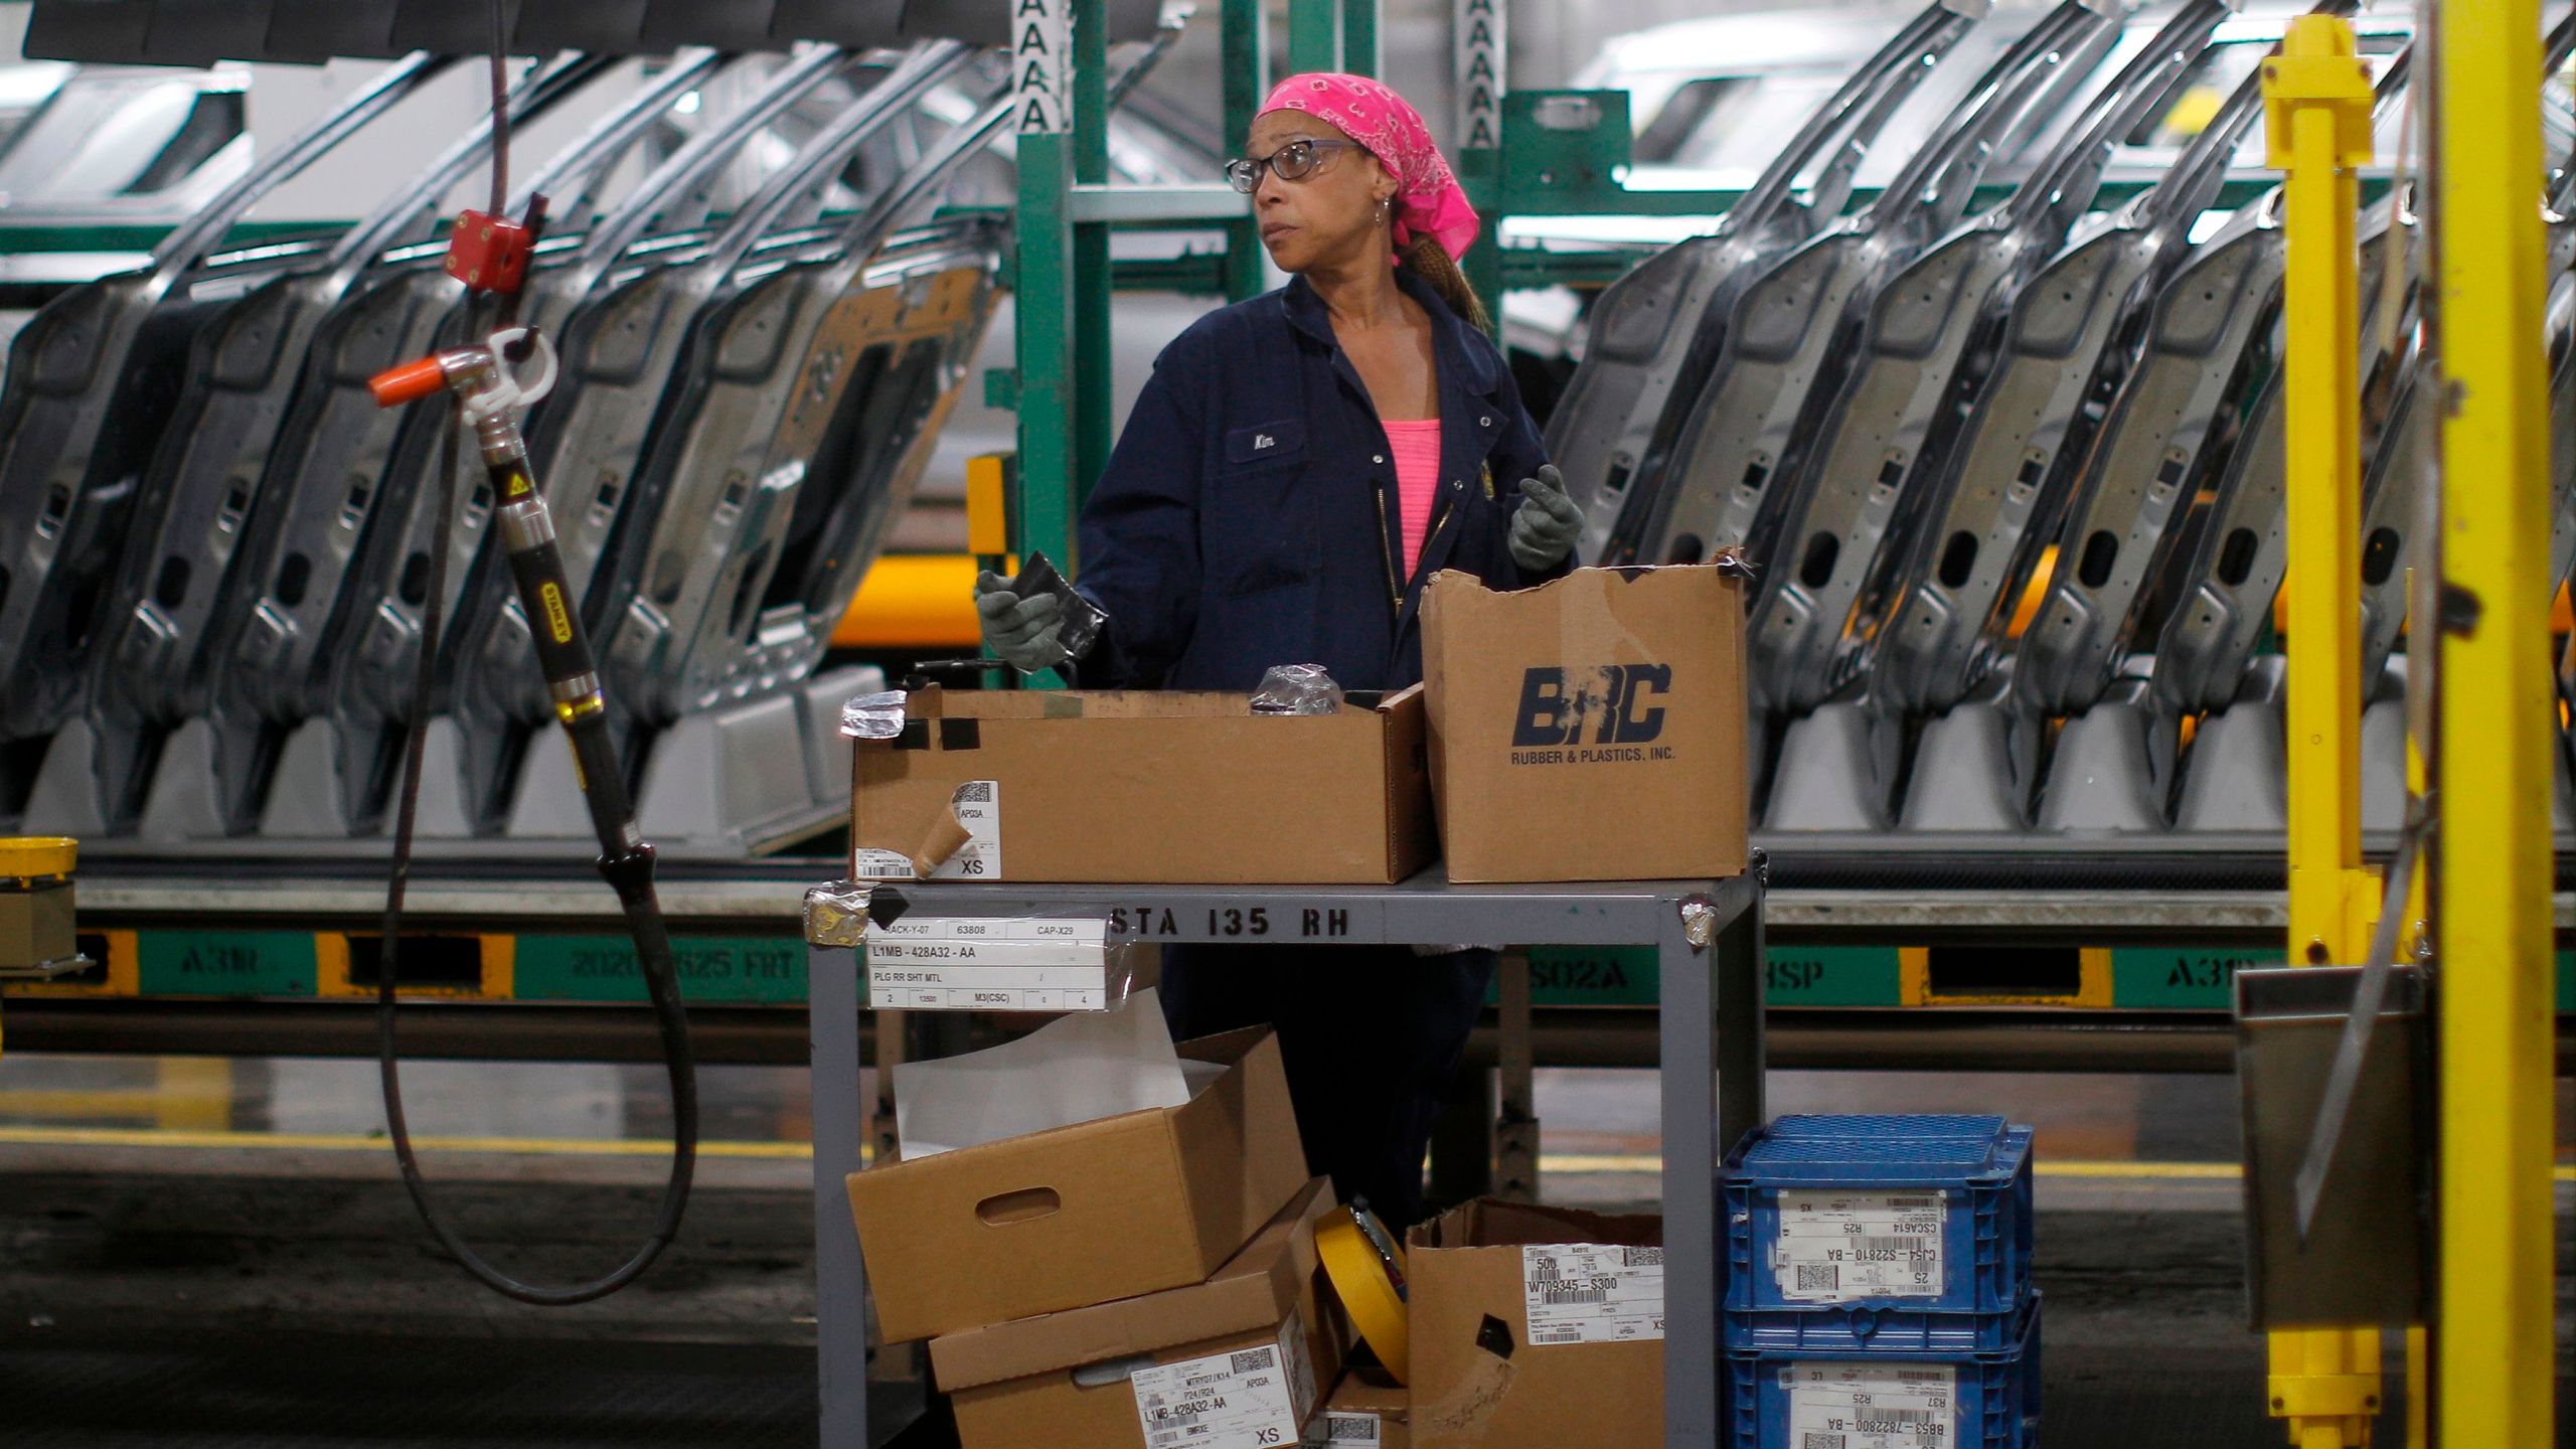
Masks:
[[[1726,1160],[1728,1348],[2007,1348],[2030,1294],[2030,1129],[1888,1116],[1868,1134],[1811,1134],[1814,1122],[1749,1132]],[[1801,1196],[1816,1199],[1803,1214]],[[1788,1253],[1783,1199],[1808,1227]],[[1932,1240],[1937,1274],[1909,1276]]]

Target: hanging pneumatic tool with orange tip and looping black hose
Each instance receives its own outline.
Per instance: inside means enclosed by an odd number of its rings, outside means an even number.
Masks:
[[[513,222],[505,214],[510,131],[502,103],[502,10],[500,0],[495,0],[492,209],[466,211],[456,222],[453,242],[448,245],[448,271],[477,297],[492,294],[500,299],[502,327],[489,333],[482,343],[448,348],[443,353],[381,371],[368,382],[368,387],[376,394],[379,407],[402,407],[448,392],[456,400],[459,420],[471,428],[474,446],[482,454],[482,467],[489,477],[492,498],[497,500],[495,523],[500,547],[510,559],[510,578],[518,588],[520,606],[528,611],[528,621],[533,624],[531,634],[536,637],[536,657],[546,673],[549,694],[554,696],[554,714],[572,743],[574,779],[582,789],[582,804],[590,810],[590,828],[600,841],[600,877],[605,877],[618,892],[618,905],[626,913],[626,931],[634,936],[636,964],[641,967],[644,987],[652,995],[654,1024],[662,1031],[662,1057],[670,1070],[672,1096],[672,1165],[670,1181],[662,1189],[662,1209],[654,1220],[652,1238],[647,1238],[644,1245],[608,1276],[567,1289],[549,1289],[523,1284],[487,1263],[464,1243],[464,1235],[459,1235],[430,1201],[428,1181],[420,1176],[420,1160],[412,1155],[410,1124],[402,1114],[402,1078],[399,1057],[394,1052],[394,964],[397,946],[402,941],[402,900],[412,871],[412,825],[420,804],[422,730],[412,730],[410,735],[402,766],[402,794],[394,812],[394,864],[392,879],[386,882],[384,957],[379,972],[381,980],[376,985],[376,1047],[384,1075],[384,1119],[394,1137],[394,1158],[402,1163],[402,1186],[410,1189],[412,1204],[420,1209],[420,1220],[430,1227],[430,1235],[438,1238],[438,1245],[446,1248],[466,1274],[482,1279],[495,1292],[544,1307],[567,1307],[613,1294],[631,1284],[680,1232],[680,1214],[688,1207],[688,1186],[698,1163],[698,1067],[688,1047],[688,1008],[680,1003],[680,977],[672,967],[670,931],[662,923],[662,902],[654,897],[654,851],[636,830],[634,802],[626,797],[626,773],[618,763],[616,740],[608,732],[608,701],[600,696],[600,676],[592,668],[590,639],[582,632],[580,601],[572,596],[572,585],[564,575],[564,559],[554,544],[554,518],[546,513],[546,498],[536,490],[536,477],[531,477],[528,469],[528,441],[518,428],[520,413],[554,387],[556,358],[554,345],[546,343],[536,327],[510,325],[518,309],[518,291],[526,284],[528,258],[533,255],[536,237],[544,227],[546,199],[531,199],[528,217],[520,222]],[[471,312],[479,312],[479,307],[471,307],[469,315]],[[533,369],[526,379],[518,371],[523,366]],[[438,518],[446,521],[443,526],[453,526],[459,503],[456,428],[446,431],[443,454],[446,456],[440,456],[438,467]],[[430,585],[425,614],[420,619],[415,719],[430,717],[435,694],[440,601],[446,596],[446,580],[440,575],[446,572],[446,559],[448,547],[440,541],[440,547],[430,549]]]

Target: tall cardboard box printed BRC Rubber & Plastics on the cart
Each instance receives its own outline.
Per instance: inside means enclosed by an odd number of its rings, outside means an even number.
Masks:
[[[1716,565],[1574,570],[1422,601],[1432,792],[1455,882],[1744,869],[1744,585]]]

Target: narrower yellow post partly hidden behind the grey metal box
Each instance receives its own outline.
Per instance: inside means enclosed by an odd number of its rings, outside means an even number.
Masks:
[[[2370,67],[2352,26],[2290,23],[2264,62],[2264,142],[2282,183],[2290,482],[2290,959],[2357,962],[2375,913],[2362,869],[2362,413],[2354,168],[2370,162]],[[2370,1444],[2375,1328],[2272,1336],[2272,1415],[2300,1449]]]

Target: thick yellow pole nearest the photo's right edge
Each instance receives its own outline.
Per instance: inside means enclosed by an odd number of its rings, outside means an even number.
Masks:
[[[2550,637],[2540,3],[2442,0],[2434,1441],[2550,1444]]]

